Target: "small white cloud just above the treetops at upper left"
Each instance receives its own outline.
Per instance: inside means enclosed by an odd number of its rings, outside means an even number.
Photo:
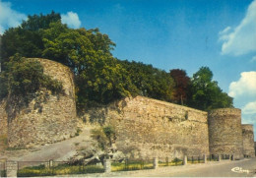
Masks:
[[[78,14],[68,12],[66,15],[61,15],[61,22],[67,24],[69,28],[78,29],[81,26],[81,21],[79,20]]]

